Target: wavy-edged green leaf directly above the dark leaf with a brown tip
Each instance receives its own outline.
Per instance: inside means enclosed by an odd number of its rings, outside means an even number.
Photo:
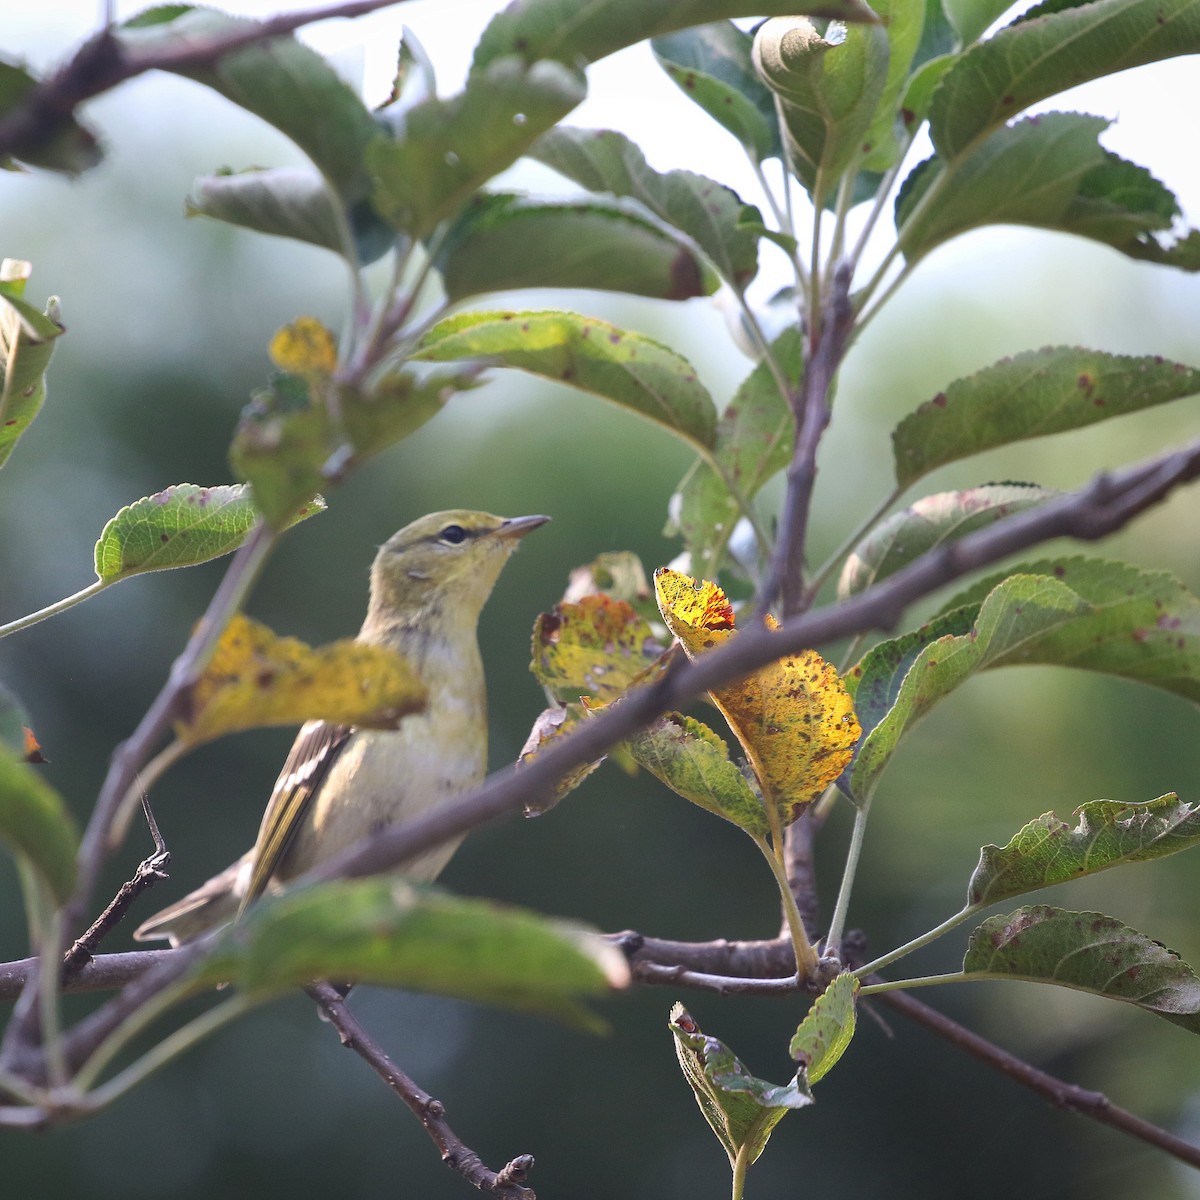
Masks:
[[[623,133],[562,127],[541,137],[529,157],[589,192],[611,192],[686,234],[730,287],[743,290],[758,271],[756,208],[736,192],[690,170],[656,172]]]

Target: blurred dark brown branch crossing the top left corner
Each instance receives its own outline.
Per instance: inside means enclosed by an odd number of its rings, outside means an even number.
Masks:
[[[31,88],[20,103],[14,104],[0,120],[0,158],[7,155],[18,158],[32,155],[56,134],[61,122],[84,101],[146,71],[184,71],[208,66],[227,54],[290,34],[302,25],[334,17],[362,17],[398,2],[400,0],[349,0],[310,8],[307,12],[280,13],[247,23],[220,37],[197,38],[169,50],[162,47],[130,47],[108,30],[102,30],[85,42],[66,66]]]

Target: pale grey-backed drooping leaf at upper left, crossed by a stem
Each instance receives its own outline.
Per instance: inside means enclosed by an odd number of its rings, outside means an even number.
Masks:
[[[186,214],[344,253],[342,229],[329,188],[319,174],[304,167],[202,175],[192,185]],[[373,263],[391,250],[394,230],[366,200],[353,204],[346,218],[360,263]]]

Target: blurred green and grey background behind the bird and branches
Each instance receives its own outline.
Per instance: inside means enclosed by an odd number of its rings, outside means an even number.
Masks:
[[[498,5],[454,6],[463,24],[450,32],[448,7],[414,4],[403,16],[436,59],[444,46],[457,62]],[[94,16],[78,0],[28,8],[4,49],[38,65],[65,53]],[[366,36],[371,50],[380,40],[394,47],[397,19],[364,26],[366,35],[337,26],[338,36],[347,46]],[[1124,106],[1122,126],[1134,131],[1123,152],[1180,188],[1187,203],[1200,194],[1190,144],[1177,138],[1170,152],[1139,152],[1136,143],[1139,130],[1163,122],[1174,121],[1178,133],[1177,114],[1187,107],[1171,80],[1190,86],[1188,95],[1195,80],[1177,66],[1139,73],[1166,80],[1162,109],[1147,115],[1146,91],[1126,90],[1114,103]],[[452,86],[452,68],[446,79]],[[654,76],[644,52],[604,64],[593,92],[577,124],[624,119],[656,149],[656,167],[731,178],[726,136],[694,124],[686,101]],[[653,128],[643,136],[647,113]],[[229,436],[269,371],[271,332],[300,313],[337,328],[346,302],[344,272],[332,256],[181,218],[196,174],[223,163],[295,161],[272,131],[173,78],[136,80],[88,115],[108,142],[98,170],[77,182],[0,179],[0,252],[34,262],[30,298],[60,295],[68,328],[46,409],[0,478],[0,620],[85,586],[92,542],[121,505],[174,482],[228,481]],[[540,188],[547,179],[528,168],[515,175],[518,185]],[[772,253],[764,250],[764,264],[778,271]],[[571,307],[659,337],[692,359],[719,402],[750,368],[709,301],[672,307],[547,293],[485,304]],[[814,559],[888,491],[890,428],[949,379],[1002,354],[1060,342],[1200,364],[1198,318],[1195,278],[1082,242],[1002,229],[938,252],[842,373],[821,458]],[[1184,401],[946,468],[924,490],[994,479],[1070,487],[1194,436],[1196,425],[1194,402]],[[286,539],[250,611],[310,641],[343,636],[361,619],[374,547],[414,516],[449,506],[552,514],[554,523],[523,546],[484,617],[492,762],[500,766],[515,757],[542,704],[527,671],[535,614],[558,599],[570,568],[600,551],[634,550],[648,566],[673,558],[679,547],[660,530],[688,466],[686,451],[655,427],[580,394],[497,376],[331,494],[325,515]],[[1200,587],[1194,494],[1177,496],[1097,552],[1170,568]],[[124,583],[0,644],[0,677],[32,713],[50,760],[46,775],[80,822],[113,746],[155,695],[222,569],[216,563]],[[919,618],[913,613],[912,623]],[[1196,799],[1196,713],[1182,701],[1120,682],[1027,668],[968,684],[911,739],[881,790],[851,924],[882,952],[937,923],[959,907],[978,847],[1006,841],[1048,809],[1066,815],[1099,797],[1144,800],[1170,790]],[[155,788],[172,881],[139,917],[245,850],[289,738],[288,731],[258,732],[205,746]],[[841,812],[821,844],[827,905],[847,830]],[[134,838],[112,865],[106,890],[148,848]],[[1196,859],[1182,856],[1058,889],[1051,902],[1102,908],[1198,964],[1196,877]],[[630,780],[611,767],[540,820],[476,833],[444,882],[606,930],[709,938],[769,936],[778,928],[772,881],[746,839],[644,776]],[[118,932],[106,948],[128,944]],[[955,968],[962,944],[964,937],[947,938],[914,959],[913,972]],[[6,959],[26,953],[7,860],[0,863],[0,947]],[[485,1162],[499,1166],[514,1154],[535,1154],[539,1195],[706,1200],[727,1194],[727,1171],[674,1061],[666,1030],[673,998],[674,991],[644,989],[607,1003],[606,1039],[367,988],[355,992],[354,1008],[446,1103],[451,1123]],[[683,998],[706,1032],[727,1040],[752,1070],[787,1078],[794,1003]],[[923,998],[1046,1069],[1200,1139],[1200,1042],[1181,1030],[1121,1006],[1019,984]],[[72,1013],[94,1003],[76,1000]],[[1200,1175],[1051,1109],[874,1008],[817,1097],[776,1132],[751,1172],[749,1195],[1200,1195]],[[300,996],[214,1038],[92,1121],[40,1136],[0,1132],[0,1156],[2,1190],[13,1198],[469,1194],[407,1110]]]

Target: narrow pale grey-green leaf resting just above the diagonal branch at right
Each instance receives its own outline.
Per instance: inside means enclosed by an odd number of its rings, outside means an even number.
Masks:
[[[1036,484],[983,484],[924,496],[882,521],[854,547],[841,569],[838,596],[856,595],[938,546],[1058,494]]]

